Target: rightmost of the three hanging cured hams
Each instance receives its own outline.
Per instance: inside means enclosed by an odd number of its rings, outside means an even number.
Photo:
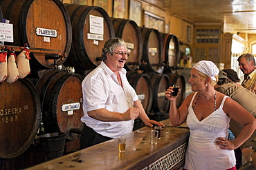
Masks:
[[[28,44],[24,45],[24,50],[19,53],[17,56],[17,65],[19,70],[19,78],[24,78],[28,74],[30,74],[30,65],[29,65],[29,52],[28,52]]]

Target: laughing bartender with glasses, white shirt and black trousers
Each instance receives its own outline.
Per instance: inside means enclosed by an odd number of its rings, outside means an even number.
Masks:
[[[102,49],[103,61],[82,82],[85,123],[80,147],[86,148],[132,131],[134,119],[149,127],[164,126],[149,120],[143,105],[126,78],[127,45],[120,38],[109,39]]]

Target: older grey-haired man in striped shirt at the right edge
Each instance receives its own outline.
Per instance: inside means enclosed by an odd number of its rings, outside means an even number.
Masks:
[[[241,85],[256,94],[256,66],[254,56],[248,53],[242,54],[237,61],[239,62],[240,70],[244,73],[244,81]]]

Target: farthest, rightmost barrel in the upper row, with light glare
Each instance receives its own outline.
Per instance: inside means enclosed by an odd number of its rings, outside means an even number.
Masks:
[[[176,67],[179,63],[179,41],[173,34],[162,34],[163,36],[163,62],[165,69]]]

